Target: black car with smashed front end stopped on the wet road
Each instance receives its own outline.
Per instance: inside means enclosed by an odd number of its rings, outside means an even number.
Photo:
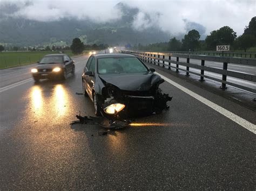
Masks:
[[[154,71],[133,55],[91,55],[82,75],[83,93],[92,100],[96,116],[156,114],[169,108],[166,102],[172,97],[161,92],[164,80]]]

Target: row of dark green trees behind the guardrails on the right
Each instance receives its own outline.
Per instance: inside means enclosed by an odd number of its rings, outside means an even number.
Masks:
[[[200,51],[215,50],[217,45],[230,45],[232,50],[243,49],[256,46],[256,17],[253,17],[244,33],[237,37],[237,33],[229,26],[223,26],[218,30],[212,31],[205,40],[199,40],[200,34],[197,30],[188,31],[180,41],[172,38],[169,42],[154,43],[149,45],[135,44],[132,49],[147,51]]]

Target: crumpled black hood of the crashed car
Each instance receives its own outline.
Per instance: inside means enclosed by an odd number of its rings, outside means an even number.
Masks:
[[[100,79],[111,83],[121,90],[147,91],[154,84],[163,80],[159,75],[153,73],[139,74],[104,74],[99,75]]]

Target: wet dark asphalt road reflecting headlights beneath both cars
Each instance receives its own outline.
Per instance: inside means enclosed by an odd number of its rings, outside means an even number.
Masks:
[[[140,126],[99,136],[97,125],[70,125],[79,111],[93,115],[89,98],[76,94],[86,59],[75,59],[65,81],[24,81],[31,66],[1,70],[0,190],[255,190],[255,134],[170,83],[160,85],[173,96],[170,110],[136,119]],[[157,72],[256,123],[254,111]]]

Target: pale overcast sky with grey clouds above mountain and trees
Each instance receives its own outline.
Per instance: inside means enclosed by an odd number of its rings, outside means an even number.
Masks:
[[[201,1],[60,1],[60,0],[32,0],[14,1],[0,0],[0,11],[4,4],[15,5],[15,13],[8,13],[16,17],[49,22],[62,18],[93,19],[106,22],[118,19],[122,14],[114,5],[119,2],[140,10],[134,15],[134,29],[146,29],[157,25],[163,31],[172,34],[185,32],[186,22],[196,22],[206,28],[206,34],[223,26],[230,26],[238,35],[244,32],[251,18],[256,16],[256,1],[247,0],[201,0]],[[151,19],[146,17],[151,15]]]

